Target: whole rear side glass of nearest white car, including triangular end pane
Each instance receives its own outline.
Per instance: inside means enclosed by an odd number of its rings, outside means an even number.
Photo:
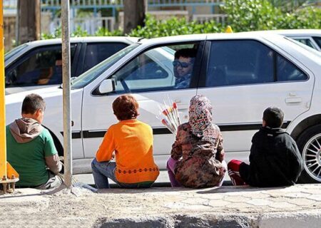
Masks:
[[[307,76],[294,64],[258,41],[213,41],[205,86],[232,86],[299,81]]]

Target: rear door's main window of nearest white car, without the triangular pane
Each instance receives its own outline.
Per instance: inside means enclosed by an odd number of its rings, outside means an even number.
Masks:
[[[213,41],[206,86],[271,82],[272,65],[272,51],[257,41]]]

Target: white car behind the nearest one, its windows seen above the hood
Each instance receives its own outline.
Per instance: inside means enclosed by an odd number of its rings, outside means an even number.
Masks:
[[[71,38],[71,77],[96,66],[137,38]],[[61,38],[21,44],[4,56],[6,94],[61,84]]]

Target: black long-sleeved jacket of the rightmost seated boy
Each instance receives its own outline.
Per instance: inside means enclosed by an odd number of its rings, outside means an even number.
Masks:
[[[295,140],[281,128],[263,127],[255,133],[250,149],[250,169],[240,167],[249,185],[272,187],[294,185],[303,169]]]

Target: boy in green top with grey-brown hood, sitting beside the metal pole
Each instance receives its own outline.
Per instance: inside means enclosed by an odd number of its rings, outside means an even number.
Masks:
[[[6,126],[7,160],[19,173],[17,187],[49,189],[62,183],[62,164],[49,130],[41,123],[46,103],[40,95],[24,98],[22,118]]]

